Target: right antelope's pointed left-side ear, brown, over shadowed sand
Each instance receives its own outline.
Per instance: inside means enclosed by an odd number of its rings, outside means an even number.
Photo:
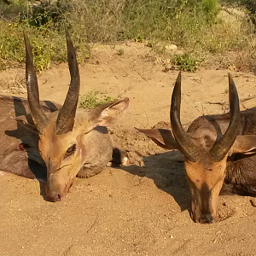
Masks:
[[[137,131],[143,132],[150,137],[154,143],[161,148],[166,149],[178,149],[175,138],[172,136],[172,132],[166,129],[138,129]]]

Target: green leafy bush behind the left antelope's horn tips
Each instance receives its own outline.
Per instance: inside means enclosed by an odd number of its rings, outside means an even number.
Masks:
[[[23,41],[23,30],[25,29],[34,57],[34,66],[37,71],[42,71],[49,67],[50,61],[57,63],[67,60],[67,44],[64,27],[30,26],[28,20],[22,22],[4,22],[0,20],[0,69],[12,67],[15,64],[25,61],[25,45]],[[79,49],[78,61],[84,61],[90,55],[90,49],[86,39],[78,40],[77,34],[71,37],[76,49]]]

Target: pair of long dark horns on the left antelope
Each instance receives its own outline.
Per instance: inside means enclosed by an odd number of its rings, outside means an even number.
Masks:
[[[71,82],[67,92],[67,96],[63,107],[61,108],[56,121],[56,134],[66,133],[73,130],[76,108],[79,100],[80,76],[79,66],[76,59],[75,49],[71,38],[66,31],[67,38],[67,60],[71,76]],[[32,119],[39,133],[44,132],[44,128],[48,126],[49,119],[44,113],[39,102],[38,79],[35,67],[33,65],[32,48],[24,31],[24,39],[26,45],[26,88],[27,100],[32,114]]]

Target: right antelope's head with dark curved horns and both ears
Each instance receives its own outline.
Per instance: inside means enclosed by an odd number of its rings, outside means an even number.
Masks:
[[[221,118],[200,117],[189,125],[187,132],[180,122],[181,73],[172,92],[172,132],[165,129],[137,129],[154,143],[166,149],[178,149],[184,155],[184,166],[192,195],[191,217],[195,222],[212,223],[217,216],[218,195],[224,183],[227,158],[231,154],[250,154],[255,137],[237,136],[240,127],[239,98],[236,85],[229,75],[230,123],[224,134]]]

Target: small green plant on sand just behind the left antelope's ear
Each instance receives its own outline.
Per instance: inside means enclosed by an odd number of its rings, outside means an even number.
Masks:
[[[84,100],[80,102],[79,108],[94,108],[103,103],[113,102],[117,99],[113,99],[111,96],[102,95],[102,93],[98,90],[89,91],[85,96],[82,96]]]

